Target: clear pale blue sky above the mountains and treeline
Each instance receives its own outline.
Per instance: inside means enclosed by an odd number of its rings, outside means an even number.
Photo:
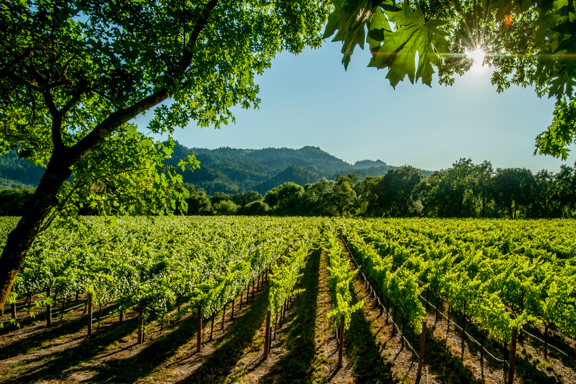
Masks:
[[[174,138],[187,147],[320,147],[349,163],[380,159],[422,169],[450,167],[459,158],[496,167],[558,171],[561,160],[533,156],[534,139],[551,122],[553,100],[533,89],[496,93],[490,69],[472,69],[452,87],[389,85],[385,71],[368,68],[370,52],[357,49],[348,71],[341,44],[299,56],[281,53],[258,77],[257,110],[235,108],[236,124],[220,130],[195,124]],[[143,119],[139,119],[143,122]],[[576,152],[568,157],[573,165]]]

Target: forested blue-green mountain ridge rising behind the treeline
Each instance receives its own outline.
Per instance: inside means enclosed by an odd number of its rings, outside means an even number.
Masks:
[[[396,169],[381,160],[361,160],[354,165],[346,163],[318,147],[235,149],[188,148],[176,143],[174,152],[167,164],[174,165],[178,160],[195,155],[200,161],[200,169],[182,172],[184,182],[202,188],[213,195],[215,192],[235,193],[238,191],[267,191],[285,182],[304,185],[317,182],[321,178],[335,180],[337,174],[356,173],[359,178],[382,176],[389,169]],[[432,171],[423,171],[429,176]],[[37,167],[19,159],[14,152],[0,156],[0,189],[10,187],[34,187],[44,174],[43,167]]]

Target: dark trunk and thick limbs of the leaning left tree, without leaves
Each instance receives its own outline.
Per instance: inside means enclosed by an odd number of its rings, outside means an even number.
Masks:
[[[204,8],[202,14],[197,19],[194,25],[193,32],[189,38],[187,49],[184,51],[179,63],[179,67],[184,72],[193,59],[193,49],[195,48],[196,41],[202,29],[208,21],[210,12],[216,7],[218,0],[210,0]],[[149,110],[150,108],[160,104],[171,96],[169,89],[172,86],[165,86],[158,89],[147,97],[134,103],[132,106],[120,109],[108,116],[104,121],[101,121],[84,139],[73,145],[73,147],[66,147],[62,144],[61,136],[61,122],[62,117],[65,115],[70,106],[65,106],[62,110],[58,111],[53,105],[51,94],[48,91],[43,91],[43,97],[47,108],[52,117],[52,140],[53,140],[53,153],[46,167],[46,172],[36,188],[36,192],[32,197],[30,209],[21,217],[16,225],[16,228],[10,232],[6,240],[5,248],[0,256],[0,315],[4,313],[5,302],[8,300],[10,289],[16,278],[16,274],[32,247],[32,243],[40,232],[45,219],[48,217],[51,209],[58,205],[58,191],[64,181],[72,175],[71,167],[78,161],[87,156],[91,150],[97,145],[104,143],[104,141],[117,130],[123,123],[134,119],[137,115]]]

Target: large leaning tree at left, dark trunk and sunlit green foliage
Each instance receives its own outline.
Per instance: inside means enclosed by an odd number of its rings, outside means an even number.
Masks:
[[[108,215],[184,207],[182,177],[163,164],[173,143],[130,120],[155,108],[149,130],[169,134],[234,121],[232,106],[258,105],[254,76],[278,51],[320,45],[328,10],[323,0],[4,2],[0,147],[46,170],[0,256],[2,311],[32,241],[60,212],[75,214],[69,203]],[[110,198],[91,195],[94,180],[110,184]]]

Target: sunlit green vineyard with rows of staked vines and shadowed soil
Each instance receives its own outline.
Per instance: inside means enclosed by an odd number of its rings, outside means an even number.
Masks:
[[[0,381],[576,383],[575,235],[560,219],[88,218],[34,242]]]

